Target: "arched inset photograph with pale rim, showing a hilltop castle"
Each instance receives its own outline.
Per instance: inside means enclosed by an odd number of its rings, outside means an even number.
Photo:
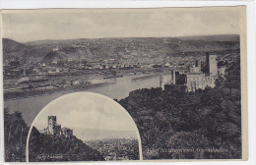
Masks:
[[[27,139],[27,161],[140,160],[141,139],[129,113],[101,94],[76,92],[46,105]]]

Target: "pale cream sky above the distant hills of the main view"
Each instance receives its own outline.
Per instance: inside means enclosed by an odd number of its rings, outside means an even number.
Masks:
[[[102,37],[239,34],[243,7],[3,11],[3,37],[19,42]]]

